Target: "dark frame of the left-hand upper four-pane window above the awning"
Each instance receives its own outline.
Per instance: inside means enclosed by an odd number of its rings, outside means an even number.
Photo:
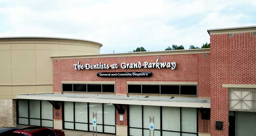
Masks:
[[[72,84],[72,91],[63,91],[63,84]],[[85,84],[86,85],[86,92],[74,91],[74,84]],[[88,92],[88,84],[100,84],[101,85],[101,92]],[[114,85],[114,92],[113,93],[103,92],[102,85],[105,85],[105,84]],[[116,93],[116,84],[115,83],[61,83],[61,92],[115,94]]]

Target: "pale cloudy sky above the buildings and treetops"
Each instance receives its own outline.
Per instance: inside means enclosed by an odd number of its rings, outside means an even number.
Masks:
[[[0,0],[0,37],[93,40],[101,53],[201,47],[207,29],[250,25],[256,0]]]

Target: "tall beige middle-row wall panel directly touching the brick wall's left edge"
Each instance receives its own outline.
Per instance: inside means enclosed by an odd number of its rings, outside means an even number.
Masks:
[[[49,84],[53,82],[52,58],[58,51],[35,50],[36,83]]]

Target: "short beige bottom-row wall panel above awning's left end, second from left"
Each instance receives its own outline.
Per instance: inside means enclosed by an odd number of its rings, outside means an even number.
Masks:
[[[12,95],[36,93],[36,86],[12,86]]]

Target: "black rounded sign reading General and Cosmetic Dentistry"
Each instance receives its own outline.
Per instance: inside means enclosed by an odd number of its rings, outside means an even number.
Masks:
[[[151,72],[99,72],[98,77],[151,77]]]

